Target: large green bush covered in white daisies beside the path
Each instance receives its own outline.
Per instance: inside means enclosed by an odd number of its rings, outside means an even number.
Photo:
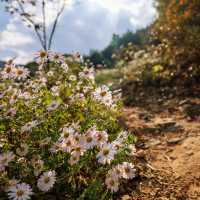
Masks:
[[[109,199],[135,175],[134,136],[117,123],[118,102],[83,63],[44,51],[36,63],[32,77],[12,62],[0,72],[0,195],[99,199],[107,188]]]

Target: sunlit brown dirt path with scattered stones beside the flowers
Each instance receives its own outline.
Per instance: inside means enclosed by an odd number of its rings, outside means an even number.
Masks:
[[[196,100],[192,100],[194,102]],[[140,186],[124,199],[200,200],[200,118],[186,115],[186,101],[124,109],[138,137]]]

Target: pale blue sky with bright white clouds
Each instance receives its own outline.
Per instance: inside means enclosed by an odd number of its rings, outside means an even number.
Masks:
[[[72,0],[71,0],[72,1]],[[49,6],[47,25],[52,25],[55,8]],[[156,17],[153,0],[80,0],[69,4],[60,18],[53,50],[62,53],[101,50],[112,34],[135,32],[151,24]],[[16,62],[30,61],[40,50],[39,42],[19,17],[10,16],[0,5],[0,60],[16,57]]]

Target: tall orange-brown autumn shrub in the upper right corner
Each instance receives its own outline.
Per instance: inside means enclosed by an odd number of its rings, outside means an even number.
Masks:
[[[156,5],[159,18],[152,29],[154,38],[167,45],[181,84],[199,81],[200,1],[157,0]]]

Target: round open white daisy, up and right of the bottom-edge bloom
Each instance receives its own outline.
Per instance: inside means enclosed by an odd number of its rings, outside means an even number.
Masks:
[[[44,172],[38,179],[37,182],[38,188],[43,192],[49,191],[56,182],[55,175],[56,175],[55,171]]]

